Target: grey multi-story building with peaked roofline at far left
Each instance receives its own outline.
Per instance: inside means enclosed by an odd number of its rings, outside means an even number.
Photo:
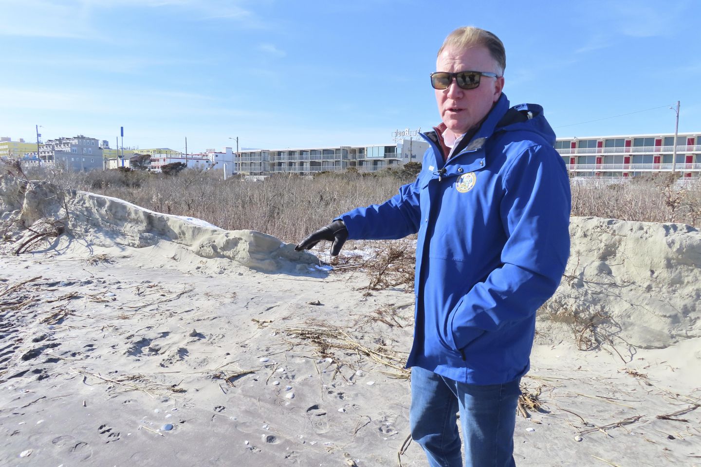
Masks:
[[[49,139],[39,148],[39,159],[76,171],[104,169],[99,141],[82,134],[72,138]]]

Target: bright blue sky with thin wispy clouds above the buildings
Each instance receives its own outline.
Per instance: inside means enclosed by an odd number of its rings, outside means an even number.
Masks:
[[[701,132],[695,0],[0,0],[0,136],[189,152],[383,144],[439,123],[444,37],[505,43],[560,137]],[[649,110],[653,109],[653,110]],[[621,116],[623,114],[629,114]],[[609,118],[615,117],[615,118]],[[592,121],[596,120],[596,121]],[[232,144],[233,143],[233,144]]]

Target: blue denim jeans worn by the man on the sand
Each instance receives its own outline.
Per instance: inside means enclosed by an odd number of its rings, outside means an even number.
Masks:
[[[477,386],[411,368],[411,438],[431,467],[461,467],[457,412],[465,438],[465,466],[515,467],[514,427],[520,378]]]

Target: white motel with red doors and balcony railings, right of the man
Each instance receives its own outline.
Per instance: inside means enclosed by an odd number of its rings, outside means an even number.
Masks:
[[[669,133],[558,138],[555,148],[575,178],[614,181],[672,172],[675,152],[675,172],[686,178],[701,176],[701,132],[679,133],[676,141]]]

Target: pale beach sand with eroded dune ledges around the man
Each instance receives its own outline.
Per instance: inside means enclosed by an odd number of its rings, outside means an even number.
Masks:
[[[7,192],[6,221],[25,203],[11,206]],[[89,225],[81,235],[19,256],[12,253],[26,238],[21,229],[3,244],[0,465],[426,465],[414,442],[398,456],[409,435],[401,360],[411,345],[413,294],[369,293],[364,274],[315,267],[313,256],[258,232],[225,232],[90,194],[72,200],[72,231]],[[100,203],[118,209],[99,214]],[[697,235],[574,219],[573,241],[587,223],[598,226],[588,232],[613,225],[628,237],[661,235],[655,244],[666,249],[646,252],[660,271],[674,265],[660,255],[674,258]],[[602,259],[592,253],[602,242],[585,243],[577,241],[578,263],[571,259],[566,273],[583,286],[564,281],[559,301],[585,297],[587,309],[618,303],[609,311],[625,333],[601,323],[597,340],[554,306],[541,314],[522,384],[517,465],[701,466],[701,337],[690,303],[698,286],[687,280],[698,267],[686,265],[681,279],[672,267],[671,284],[655,279],[655,294],[645,295],[646,283],[626,282],[637,269],[618,265],[639,246],[619,244]],[[597,274],[608,274],[609,286]],[[601,290],[612,283],[615,300],[604,302]],[[662,312],[660,296],[671,304]],[[658,302],[635,306],[646,297]]]

